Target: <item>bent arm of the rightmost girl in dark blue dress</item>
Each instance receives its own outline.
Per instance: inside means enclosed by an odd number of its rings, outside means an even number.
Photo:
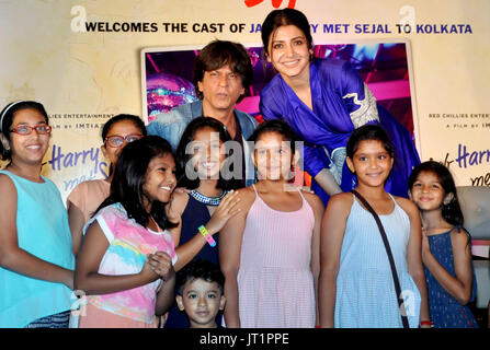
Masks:
[[[472,270],[471,248],[466,233],[458,229],[451,233],[453,246],[454,270],[456,277],[447,272],[432,255],[426,234],[422,237],[422,260],[437,282],[461,305],[466,305],[471,299]]]

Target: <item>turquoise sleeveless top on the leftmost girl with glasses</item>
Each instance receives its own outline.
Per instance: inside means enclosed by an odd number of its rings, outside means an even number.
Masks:
[[[48,262],[75,269],[68,213],[56,185],[46,177],[33,183],[8,171],[18,192],[19,247]],[[70,310],[71,291],[61,283],[33,279],[0,267],[0,328]]]

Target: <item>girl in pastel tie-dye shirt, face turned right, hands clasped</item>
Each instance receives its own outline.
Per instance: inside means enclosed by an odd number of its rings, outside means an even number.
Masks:
[[[88,294],[80,328],[155,327],[173,300],[175,224],[166,205],[175,186],[169,142],[145,137],[121,152],[111,195],[89,221],[76,289]]]

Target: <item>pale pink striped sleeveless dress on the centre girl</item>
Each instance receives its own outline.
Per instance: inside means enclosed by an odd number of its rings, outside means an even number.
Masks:
[[[237,277],[241,327],[314,327],[314,211],[300,191],[301,208],[283,212],[270,208],[253,189]]]

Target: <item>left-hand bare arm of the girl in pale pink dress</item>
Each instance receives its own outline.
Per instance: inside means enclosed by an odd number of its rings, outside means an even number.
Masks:
[[[241,242],[247,213],[255,198],[248,188],[239,190],[239,194],[241,197],[238,205],[240,212],[228,220],[219,234],[219,265],[225,275],[225,322],[227,328],[240,327],[237,275],[240,268]]]

